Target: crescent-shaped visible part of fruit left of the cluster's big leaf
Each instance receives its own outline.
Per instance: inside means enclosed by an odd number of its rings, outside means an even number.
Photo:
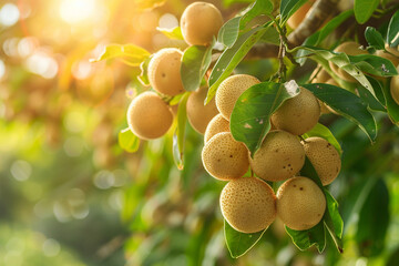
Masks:
[[[260,83],[247,74],[236,74],[225,79],[216,91],[216,106],[223,117],[229,121],[235,103],[245,90]]]

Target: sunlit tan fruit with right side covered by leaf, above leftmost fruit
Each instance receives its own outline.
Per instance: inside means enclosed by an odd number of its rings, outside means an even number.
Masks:
[[[149,63],[149,80],[155,91],[174,96],[184,92],[181,78],[183,53],[174,48],[157,51]]]

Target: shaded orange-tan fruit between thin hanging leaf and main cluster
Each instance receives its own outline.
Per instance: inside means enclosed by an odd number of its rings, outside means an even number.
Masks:
[[[187,119],[193,129],[204,134],[209,121],[218,113],[215,100],[204,105],[207,88],[203,86],[192,92],[187,100]]]

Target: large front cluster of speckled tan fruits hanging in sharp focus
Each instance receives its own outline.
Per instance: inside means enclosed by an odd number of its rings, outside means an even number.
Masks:
[[[219,111],[207,125],[202,160],[215,178],[228,181],[221,195],[221,208],[228,224],[238,232],[255,233],[276,218],[291,229],[309,229],[320,222],[326,198],[308,177],[296,176],[305,155],[314,165],[323,185],[330,184],[340,171],[340,155],[325,139],[299,136],[311,130],[320,116],[315,95],[300,93],[285,101],[272,115],[273,130],[260,149],[250,156],[245,144],[233,139],[229,119],[239,95],[260,83],[255,76],[236,74],[223,81],[216,92]],[[255,176],[244,176],[250,167]],[[267,182],[284,182],[277,194]]]

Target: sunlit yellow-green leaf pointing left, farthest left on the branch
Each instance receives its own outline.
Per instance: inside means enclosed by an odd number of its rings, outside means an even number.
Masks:
[[[134,44],[110,44],[106,45],[102,54],[98,59],[92,59],[90,62],[99,62],[109,59],[120,59],[131,66],[139,66],[151,53]]]

